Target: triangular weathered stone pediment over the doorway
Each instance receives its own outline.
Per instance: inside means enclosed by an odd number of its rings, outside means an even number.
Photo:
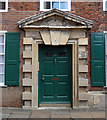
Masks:
[[[92,24],[91,20],[58,9],[42,12],[18,22],[20,28],[33,26],[87,26],[90,28]]]

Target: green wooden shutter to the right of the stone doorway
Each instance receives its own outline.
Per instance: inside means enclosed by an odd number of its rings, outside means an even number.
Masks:
[[[105,85],[105,35],[91,33],[91,86]]]

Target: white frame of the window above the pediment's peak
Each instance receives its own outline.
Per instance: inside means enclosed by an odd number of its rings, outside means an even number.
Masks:
[[[64,2],[64,1],[66,1],[68,3],[68,6],[67,6],[68,8],[67,9],[60,9],[60,8],[58,8],[58,9],[62,10],[62,11],[71,11],[71,0],[40,0],[40,11],[52,10],[52,5],[51,5],[51,9],[44,9],[44,2],[45,1],[51,2],[51,3],[52,3],[52,1],[55,1],[55,2],[60,2],[60,1]],[[59,5],[59,7],[60,7],[60,5]]]

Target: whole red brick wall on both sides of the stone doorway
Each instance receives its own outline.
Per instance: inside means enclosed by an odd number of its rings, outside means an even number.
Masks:
[[[24,31],[18,28],[17,22],[21,19],[26,17],[32,16],[34,14],[38,14],[40,11],[39,2],[9,2],[9,9],[8,12],[2,13],[2,29],[7,30],[8,32],[20,32],[21,33],[21,41],[20,41],[20,86],[16,87],[16,91],[13,93],[13,87],[3,88],[3,106],[13,106],[13,107],[21,107],[21,93],[22,93],[22,65],[23,65],[23,58],[22,58],[22,38],[24,37]],[[94,25],[93,28],[87,31],[87,36],[89,38],[89,46],[87,47],[89,56],[88,56],[88,65],[89,65],[89,72],[87,77],[89,78],[89,85],[90,85],[90,33],[91,32],[103,32],[105,24],[107,25],[107,14],[103,12],[103,3],[88,3],[88,2],[73,2],[71,3],[71,13],[85,17],[87,19],[93,20]],[[107,28],[105,28],[107,30]],[[90,90],[102,90],[102,88],[94,87]],[[17,92],[18,91],[18,92]],[[16,95],[16,94],[17,95]],[[12,98],[12,100],[11,100]],[[6,104],[6,101],[9,102]],[[16,102],[18,101],[18,102]]]

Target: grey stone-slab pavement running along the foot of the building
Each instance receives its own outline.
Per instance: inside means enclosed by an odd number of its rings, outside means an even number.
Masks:
[[[2,120],[107,120],[104,110],[0,108]]]

